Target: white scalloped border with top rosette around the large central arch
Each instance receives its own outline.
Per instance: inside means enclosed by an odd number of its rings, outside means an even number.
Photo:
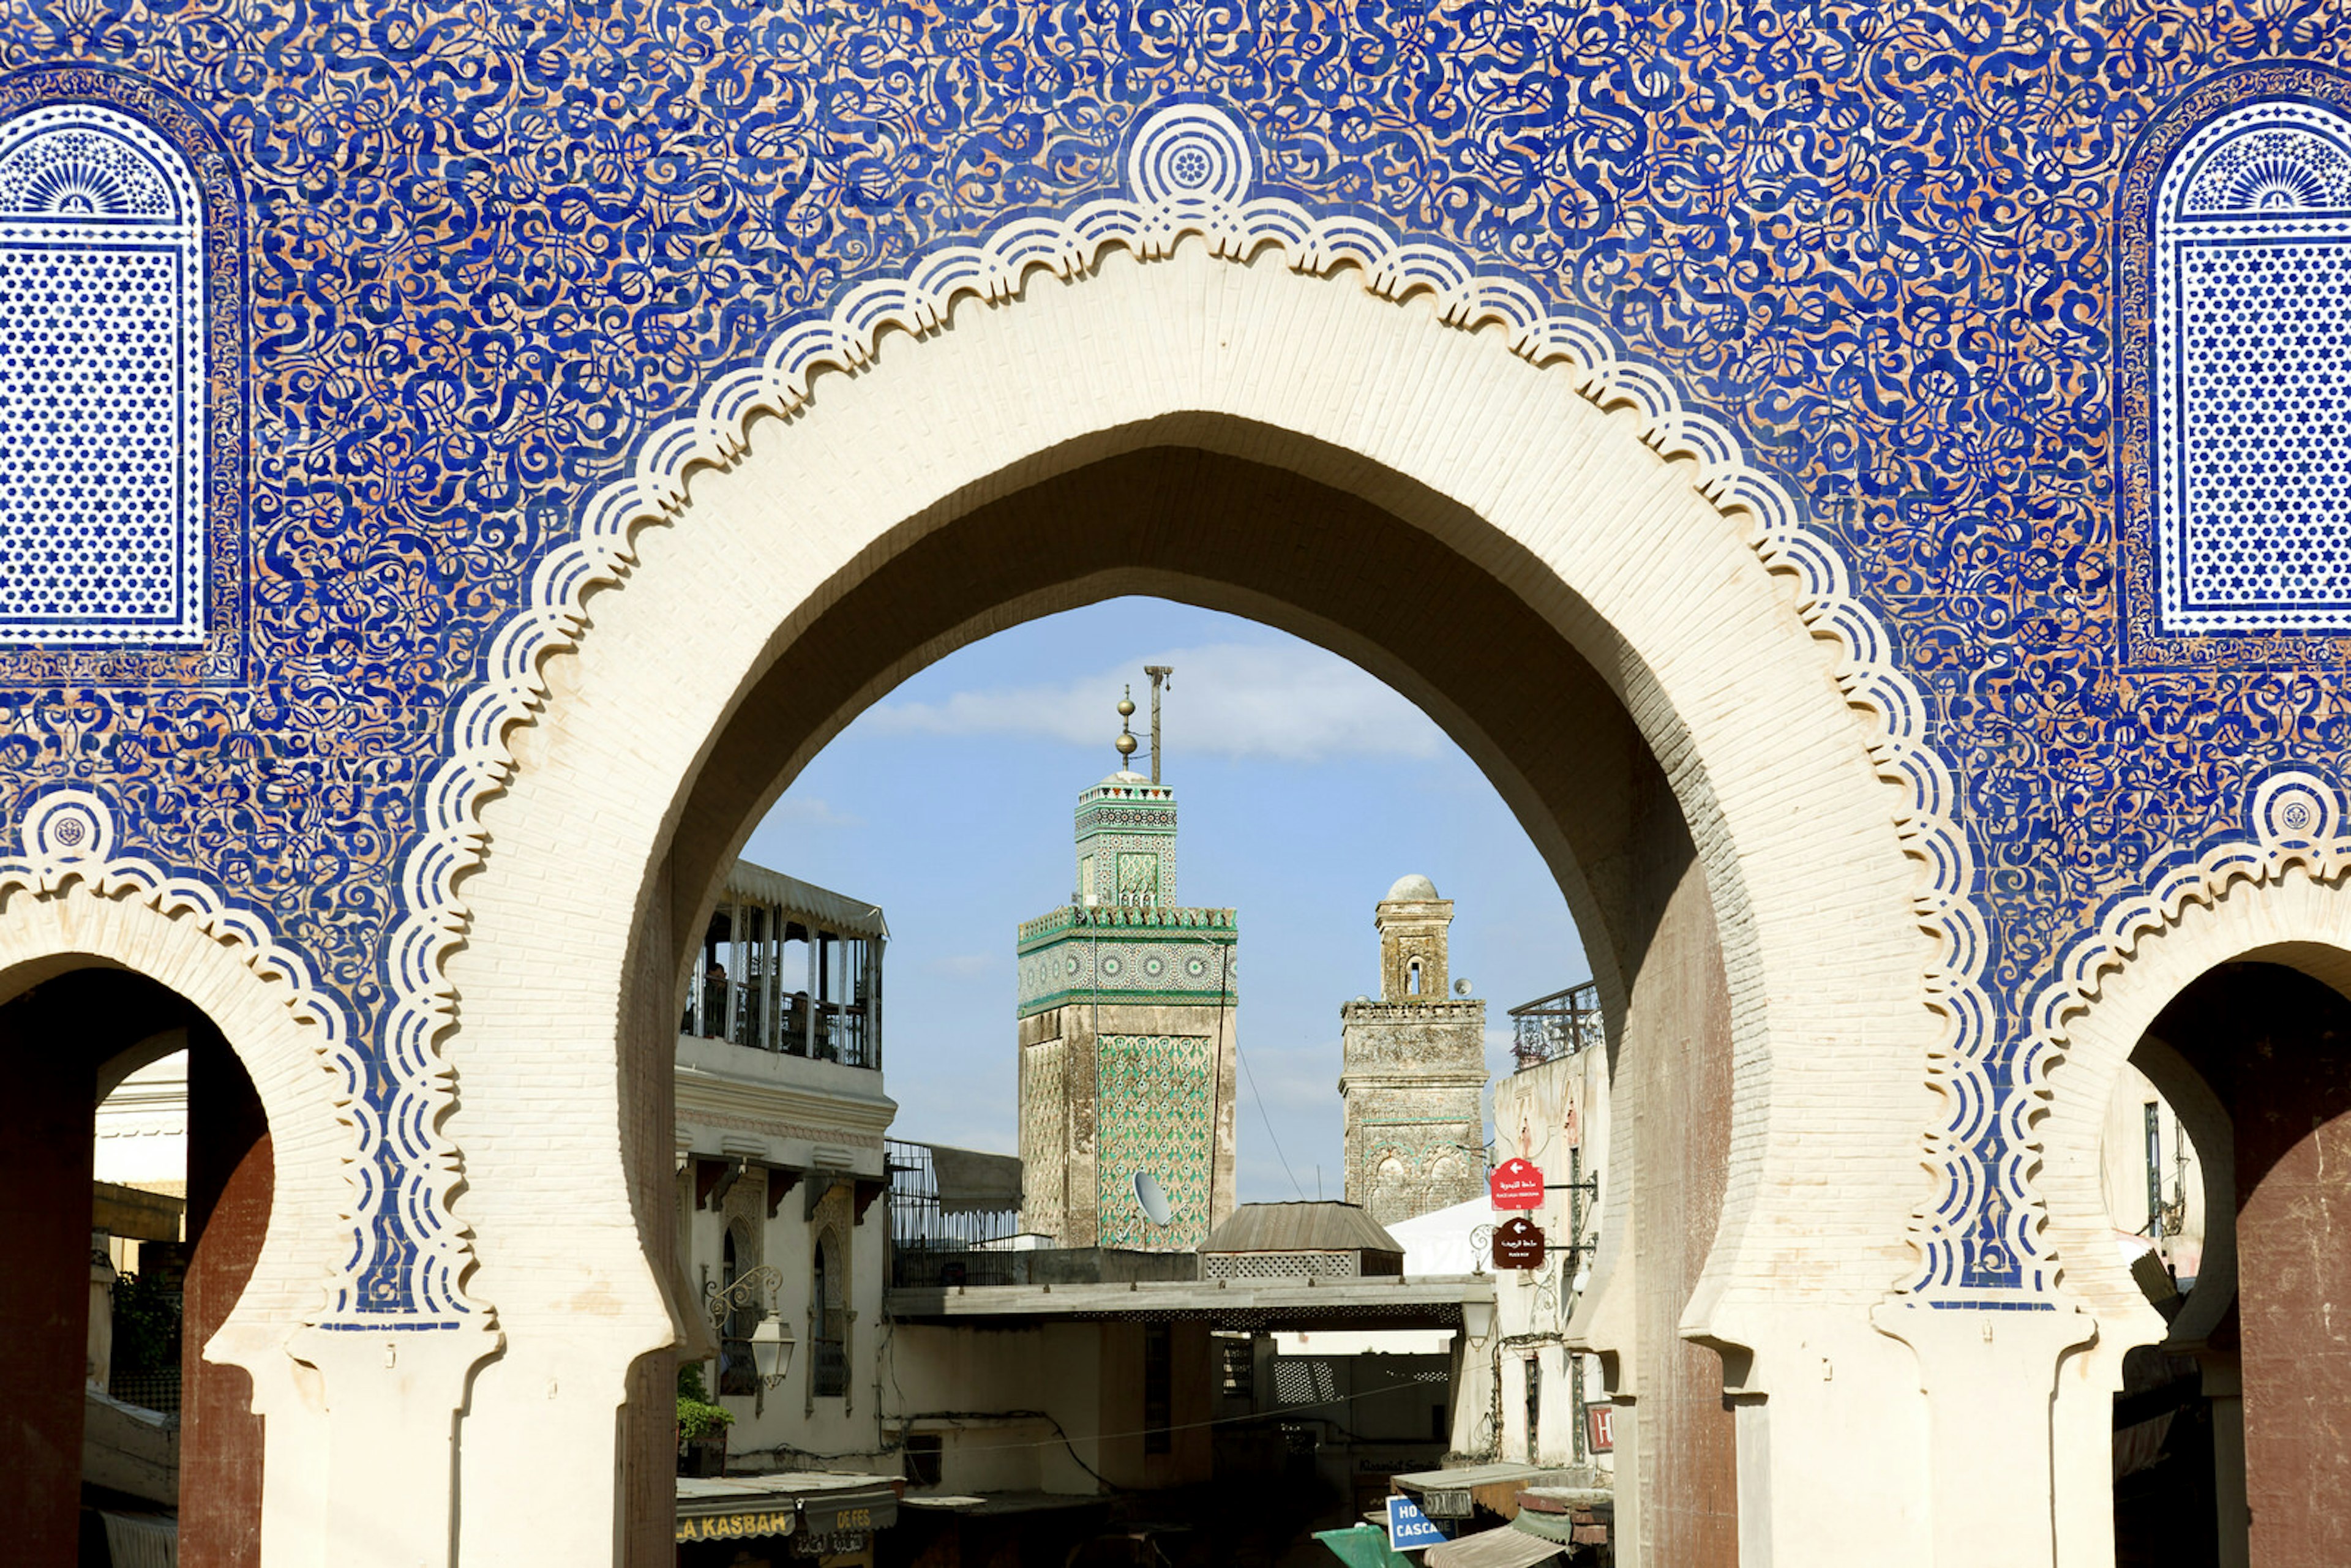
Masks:
[[[1552,310],[1542,289],[1523,275],[1434,240],[1399,235],[1361,212],[1310,212],[1262,193],[1248,136],[1225,110],[1204,103],[1147,110],[1128,143],[1124,174],[1126,190],[1117,195],[1063,214],[1009,219],[976,242],[915,259],[903,275],[856,284],[830,308],[785,327],[757,364],[719,376],[691,414],[651,430],[637,447],[632,470],[590,498],[578,538],[550,550],[536,567],[529,602],[498,630],[482,684],[451,719],[449,755],[423,785],[421,837],[402,863],[407,912],[386,959],[393,997],[386,1056],[402,1105],[397,1121],[430,1131],[447,1105],[437,1039],[454,1013],[447,959],[468,922],[456,882],[482,863],[482,804],[515,771],[508,731],[541,712],[548,698],[543,661],[578,644],[585,595],[623,578],[635,562],[635,529],[684,512],[694,470],[738,461],[755,416],[797,411],[818,371],[865,367],[884,331],[922,339],[964,296],[1016,299],[1032,270],[1070,280],[1110,249],[1157,259],[1180,240],[1199,237],[1211,254],[1232,261],[1272,247],[1298,273],[1328,275],[1352,266],[1375,296],[1404,301],[1427,292],[1446,324],[1500,329],[1509,353],[1556,369],[1563,390],[1601,407],[1634,409],[1641,440],[1665,458],[1690,458],[1700,496],[1726,515],[1744,515],[1747,538],[1763,564],[1794,578],[1803,623],[1836,646],[1836,682],[1869,719],[1871,764],[1902,792],[1897,835],[1907,853],[1925,865],[1914,910],[1921,929],[1937,940],[1925,992],[1944,1018],[1944,1044],[1930,1072],[1951,1088],[1954,1112],[1949,1126],[1930,1135],[1944,1201],[1921,1220],[1916,1241],[1925,1269],[1918,1281],[1944,1281],[1956,1295],[1958,1286],[1949,1281],[1958,1276],[1970,1199],[1982,1201],[1982,1182],[1968,1173],[1970,1145],[2001,1100],[1987,1060],[1996,1030],[1982,985],[1984,922],[1970,903],[1975,853],[1956,823],[1951,766],[1928,738],[1930,708],[1895,663],[1895,644],[1876,614],[1855,597],[1836,545],[1806,527],[1794,496],[1747,461],[1728,428],[1683,407],[1665,371],[1625,353],[1601,324]],[[440,1135],[430,1138],[430,1157],[442,1159]],[[2020,1164],[2022,1152],[2012,1152],[2010,1187],[2022,1182]],[[430,1194],[418,1192],[433,1182],[430,1161],[395,1178],[402,1213],[435,1208]],[[447,1227],[437,1208],[435,1220]],[[416,1298],[463,1312],[454,1267],[454,1253],[421,1251]]]

